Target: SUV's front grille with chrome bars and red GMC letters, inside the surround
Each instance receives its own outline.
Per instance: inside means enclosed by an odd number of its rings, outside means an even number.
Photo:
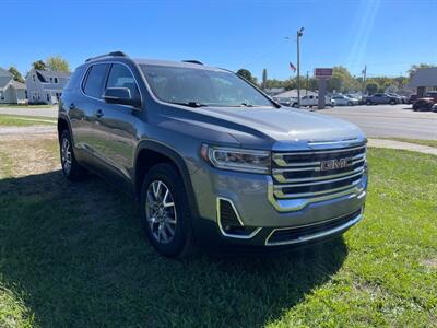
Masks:
[[[311,198],[354,188],[366,166],[366,145],[273,153],[273,195]]]

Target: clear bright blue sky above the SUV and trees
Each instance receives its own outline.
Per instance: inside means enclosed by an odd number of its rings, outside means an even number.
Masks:
[[[437,0],[2,0],[1,12],[0,67],[23,73],[51,55],[74,68],[120,49],[285,79],[300,26],[303,73],[343,65],[359,74],[367,63],[369,77],[399,75],[412,63],[437,65]]]

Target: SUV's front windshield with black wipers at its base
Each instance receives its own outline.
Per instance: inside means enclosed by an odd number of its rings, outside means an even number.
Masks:
[[[141,69],[152,92],[163,102],[199,107],[273,107],[263,94],[231,72],[155,65],[141,65]]]

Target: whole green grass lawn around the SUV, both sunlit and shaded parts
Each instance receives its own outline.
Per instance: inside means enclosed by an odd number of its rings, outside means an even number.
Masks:
[[[365,219],[344,237],[170,260],[134,201],[62,177],[56,141],[0,144],[0,327],[437,327],[437,156],[368,157]]]

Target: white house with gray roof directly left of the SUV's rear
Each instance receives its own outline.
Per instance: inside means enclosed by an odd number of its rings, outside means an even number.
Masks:
[[[32,69],[26,77],[29,104],[57,104],[70,73]]]

